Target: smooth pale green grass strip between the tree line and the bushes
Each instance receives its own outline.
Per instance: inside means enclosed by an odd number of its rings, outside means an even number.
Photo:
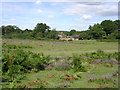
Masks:
[[[56,56],[72,56],[73,53],[82,54],[86,52],[94,52],[103,50],[107,53],[118,52],[117,42],[96,42],[95,40],[81,40],[72,42],[60,41],[40,41],[40,40],[17,40],[3,39],[3,43],[15,45],[29,45],[33,48],[25,49],[35,53],[44,53],[44,55]]]

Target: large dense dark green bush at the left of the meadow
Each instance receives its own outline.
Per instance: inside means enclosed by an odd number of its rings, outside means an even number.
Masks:
[[[3,75],[7,74],[12,81],[18,74],[26,73],[31,69],[44,70],[44,64],[50,60],[49,56],[25,52],[22,49],[4,49],[2,53]]]

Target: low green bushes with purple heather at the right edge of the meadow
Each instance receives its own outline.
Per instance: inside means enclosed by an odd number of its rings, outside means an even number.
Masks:
[[[97,61],[99,64],[103,64],[103,62],[105,62],[107,59],[115,59],[118,60],[118,56],[120,53],[105,53],[102,50],[97,50],[97,52],[93,52],[93,53],[86,53],[81,55],[82,56],[82,60],[88,62],[89,64],[92,64],[93,61]],[[99,61],[100,60],[100,61]],[[109,63],[105,63],[105,66],[112,66],[113,62],[109,62]]]

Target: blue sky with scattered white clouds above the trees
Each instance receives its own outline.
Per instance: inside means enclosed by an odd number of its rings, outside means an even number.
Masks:
[[[118,19],[117,2],[2,2],[2,25],[34,29],[46,23],[57,31],[87,30],[103,20]]]

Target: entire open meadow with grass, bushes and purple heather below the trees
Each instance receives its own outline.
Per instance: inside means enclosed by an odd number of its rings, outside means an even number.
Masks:
[[[3,88],[118,88],[118,43],[3,39]]]

